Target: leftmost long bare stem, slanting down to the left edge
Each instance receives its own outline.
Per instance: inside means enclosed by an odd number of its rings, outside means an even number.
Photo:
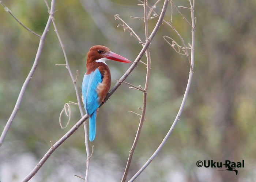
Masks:
[[[54,5],[55,5],[55,0],[52,0],[52,5],[51,5],[51,12],[53,13],[54,12]],[[50,27],[50,24],[52,22],[52,19],[51,17],[49,16],[48,18],[48,21],[46,23],[46,26],[45,26],[45,29],[44,29],[44,32],[40,38],[40,41],[39,41],[39,45],[38,45],[38,50],[37,50],[37,54],[35,55],[35,60],[34,60],[34,63],[33,63],[33,66],[29,72],[29,74],[27,75],[27,78],[25,79],[25,82],[23,83],[22,85],[22,88],[20,90],[20,93],[19,93],[19,96],[18,96],[18,99],[16,101],[16,104],[14,106],[14,110],[12,111],[12,114],[10,116],[10,118],[8,119],[5,127],[4,127],[4,130],[1,134],[1,137],[0,137],[0,146],[1,144],[3,143],[4,141],[4,138],[5,138],[5,135],[7,134],[10,126],[11,126],[11,123],[12,121],[14,120],[15,118],[15,115],[17,114],[18,110],[19,110],[19,106],[20,106],[20,103],[21,103],[21,100],[23,98],[23,95],[26,91],[26,88],[27,88],[27,85],[29,84],[29,81],[31,80],[36,68],[37,68],[37,64],[38,64],[38,61],[40,59],[40,56],[41,56],[41,53],[42,53],[42,48],[44,46],[44,40],[45,40],[45,37],[46,37],[46,34],[48,32],[48,29]]]

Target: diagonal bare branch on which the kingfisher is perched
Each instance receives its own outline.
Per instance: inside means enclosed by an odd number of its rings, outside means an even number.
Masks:
[[[162,24],[163,17],[165,16],[165,12],[166,12],[166,8],[167,8],[167,2],[168,2],[168,0],[165,0],[165,3],[163,4],[163,8],[162,8],[161,14],[159,16],[159,19],[157,21],[157,24],[155,25],[155,28],[151,32],[148,41],[146,41],[145,45],[143,46],[142,50],[140,51],[140,53],[137,56],[137,58],[135,59],[135,61],[132,63],[132,65],[129,67],[129,69],[124,73],[124,75],[119,79],[119,81],[123,82],[129,76],[129,74],[131,74],[132,70],[134,70],[134,68],[139,63],[140,59],[142,58],[142,56],[146,52],[149,44],[154,39],[155,34],[157,33],[158,29],[160,28],[160,26]],[[109,99],[109,97],[117,90],[117,88],[121,85],[121,82],[117,82],[113,86],[113,88],[109,91],[106,98],[104,99],[105,102],[102,102],[101,106],[104,103],[106,103],[106,101]],[[101,106],[99,106],[99,107],[101,107]],[[27,175],[27,177],[25,179],[23,179],[22,182],[27,182],[29,179],[31,179],[37,173],[37,171],[42,167],[42,165],[45,163],[45,161],[50,157],[50,155],[57,149],[57,147],[59,147],[61,145],[61,143],[63,143],[68,137],[70,137],[78,129],[78,127],[81,126],[82,123],[84,123],[84,121],[86,119],[88,119],[88,116],[84,115],[75,124],[75,126],[73,126],[61,139],[59,139],[59,141],[57,141],[53,145],[53,149],[48,150],[48,152],[44,155],[44,157],[39,161],[38,165],[35,166],[35,168],[29,173],[29,175]]]

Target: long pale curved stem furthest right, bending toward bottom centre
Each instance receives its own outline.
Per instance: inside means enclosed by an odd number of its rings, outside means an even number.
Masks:
[[[191,2],[191,0],[189,0]],[[181,102],[181,106],[180,109],[178,111],[178,114],[172,124],[172,126],[170,127],[170,130],[167,132],[165,138],[163,139],[163,141],[161,142],[161,144],[159,145],[159,147],[157,148],[157,150],[154,152],[154,154],[148,159],[148,161],[142,166],[142,168],[129,180],[129,182],[133,182],[141,173],[144,169],[146,169],[146,167],[151,163],[151,161],[155,158],[155,156],[159,153],[159,151],[162,149],[163,145],[165,145],[167,139],[169,138],[170,134],[172,133],[174,127],[176,126],[180,115],[182,113],[182,110],[185,106],[185,102],[188,96],[188,91],[191,85],[191,80],[192,80],[192,75],[193,75],[193,66],[194,66],[194,46],[195,46],[195,29],[193,27],[195,27],[195,19],[194,19],[194,5],[195,5],[195,0],[193,0],[193,5],[191,5],[191,22],[192,22],[192,41],[191,41],[191,65],[192,65],[192,69],[190,69],[189,71],[189,77],[188,77],[188,83],[187,83],[187,87],[185,90],[185,94],[184,97],[182,99]]]

